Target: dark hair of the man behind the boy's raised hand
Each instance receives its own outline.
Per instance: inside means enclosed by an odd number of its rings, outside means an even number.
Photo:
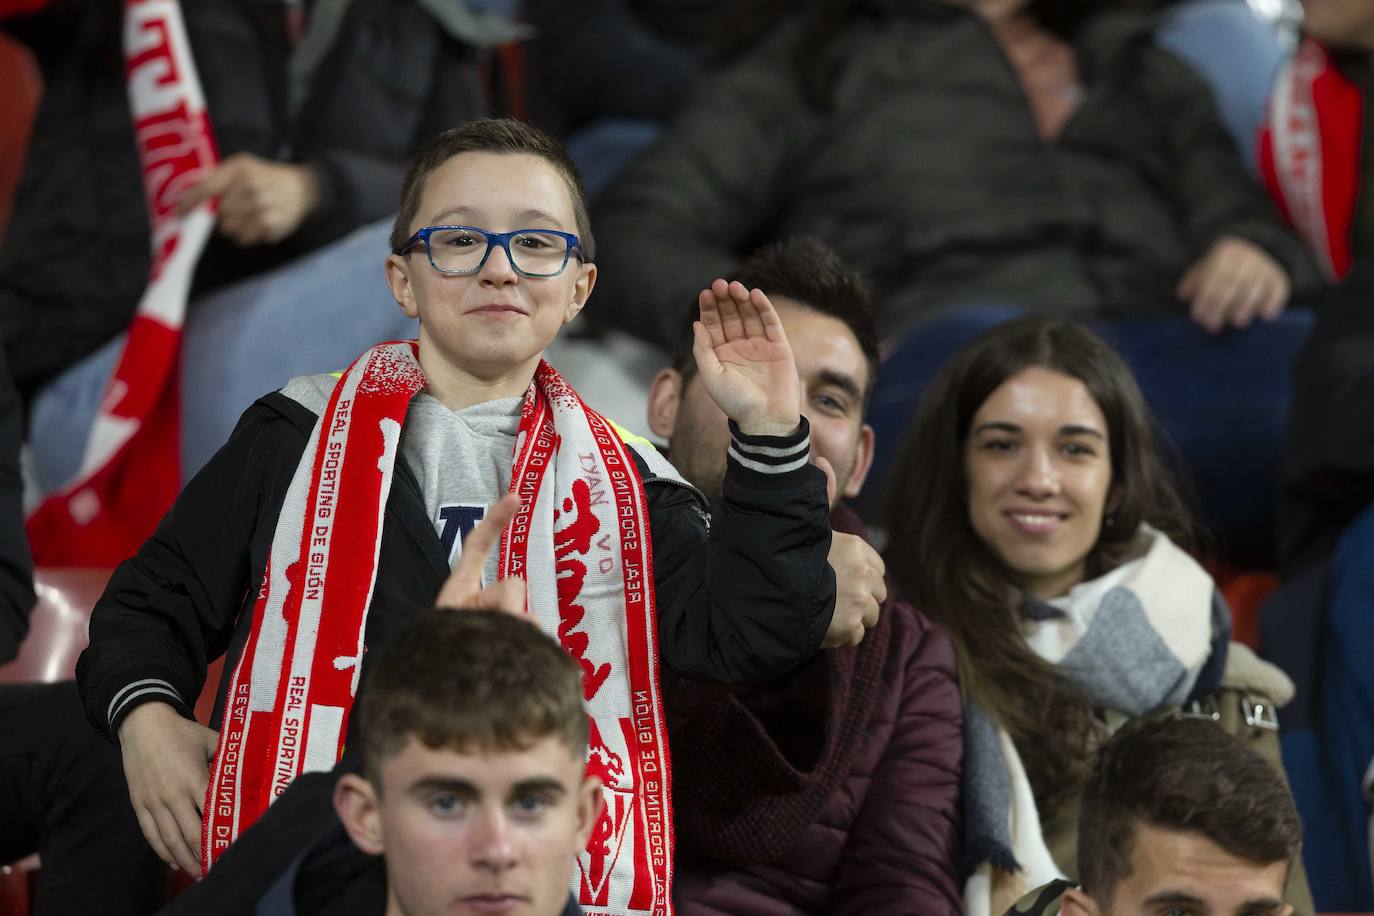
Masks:
[[[845,266],[827,244],[811,238],[775,242],[754,251],[735,277],[750,290],[763,290],[769,298],[786,297],[800,305],[844,321],[859,341],[868,364],[864,380],[864,407],[878,383],[878,327],[872,317],[872,295],[857,272]],[[691,354],[691,325],[701,314],[697,302],[686,312],[673,347],[673,368],[683,380],[697,374]]]

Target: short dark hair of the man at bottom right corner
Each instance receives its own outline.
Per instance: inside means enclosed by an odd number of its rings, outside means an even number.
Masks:
[[[1131,875],[1136,827],[1201,834],[1237,858],[1297,857],[1303,836],[1283,777],[1206,718],[1149,718],[1098,751],[1079,813],[1079,880],[1101,908]]]

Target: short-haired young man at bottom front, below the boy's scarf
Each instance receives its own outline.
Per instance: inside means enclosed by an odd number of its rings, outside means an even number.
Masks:
[[[567,652],[510,612],[440,608],[370,677],[363,773],[334,791],[348,839],[293,864],[258,916],[580,915],[567,876],[602,798]],[[382,861],[341,878],[349,840]]]

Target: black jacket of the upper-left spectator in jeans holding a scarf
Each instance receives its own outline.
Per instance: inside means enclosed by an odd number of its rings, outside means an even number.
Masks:
[[[316,23],[289,45],[284,4],[181,4],[220,155],[308,163],[320,180],[319,207],[280,243],[238,249],[213,236],[195,293],[394,213],[414,151],[485,113],[478,52],[449,36],[419,0],[349,0],[334,8],[342,22],[315,55]],[[121,10],[107,0],[71,0],[14,26],[40,52],[47,82],[0,249],[0,335],[26,394],[124,331],[148,279]],[[328,32],[323,19],[319,27]],[[49,47],[49,36],[62,41]],[[294,102],[293,85],[300,87]]]

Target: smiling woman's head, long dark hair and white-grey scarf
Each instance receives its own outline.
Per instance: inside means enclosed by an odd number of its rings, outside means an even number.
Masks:
[[[1106,343],[1029,316],[940,371],[897,459],[885,559],[949,632],[966,700],[966,912],[1070,873],[1113,725],[1230,677],[1230,612],[1184,552],[1153,426]]]

